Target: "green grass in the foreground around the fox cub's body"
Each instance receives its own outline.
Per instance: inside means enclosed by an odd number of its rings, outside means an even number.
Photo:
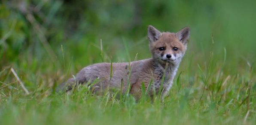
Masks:
[[[62,46],[61,51],[60,58],[65,60]],[[226,55],[224,57],[226,60]],[[43,84],[30,88],[30,94],[26,96],[10,72],[11,67],[5,67],[0,72],[1,83],[4,83],[0,89],[0,124],[254,125],[256,85],[253,68],[247,67],[242,75],[231,75],[223,71],[225,63],[216,65],[213,59],[211,52],[209,62],[205,66],[198,64],[193,75],[186,73],[186,70],[177,73],[169,96],[163,102],[158,97],[153,101],[143,97],[136,102],[129,94],[121,99],[111,93],[93,96],[87,86],[75,89],[72,94],[54,94],[52,87]],[[184,63],[180,67],[184,67]],[[64,67],[63,70],[67,69]],[[55,77],[64,79],[65,74],[58,70]],[[21,80],[28,78],[30,76]],[[7,79],[12,82],[5,83]],[[54,83],[62,81],[53,79],[56,80]],[[37,81],[45,79],[37,78]]]

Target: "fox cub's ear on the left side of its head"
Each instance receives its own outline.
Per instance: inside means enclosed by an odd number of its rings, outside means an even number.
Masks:
[[[161,36],[161,32],[158,31],[157,29],[155,29],[155,27],[149,25],[148,27],[148,38],[150,42],[155,42],[157,41],[160,36]]]

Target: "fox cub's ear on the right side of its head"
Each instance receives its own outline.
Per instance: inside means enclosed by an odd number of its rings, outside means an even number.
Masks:
[[[183,44],[187,44],[190,35],[190,28],[184,27],[179,32],[176,33],[176,37],[181,41]]]

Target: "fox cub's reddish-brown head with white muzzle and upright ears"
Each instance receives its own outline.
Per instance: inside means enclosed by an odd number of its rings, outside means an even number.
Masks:
[[[190,28],[184,27],[177,33],[160,32],[155,27],[148,27],[149,48],[152,57],[165,65],[179,64],[186,52]]]

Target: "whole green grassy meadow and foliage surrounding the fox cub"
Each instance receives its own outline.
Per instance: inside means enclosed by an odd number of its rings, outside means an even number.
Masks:
[[[255,125],[255,0],[2,0],[0,125]],[[55,88],[83,67],[150,58],[147,26],[190,26],[163,100]]]

